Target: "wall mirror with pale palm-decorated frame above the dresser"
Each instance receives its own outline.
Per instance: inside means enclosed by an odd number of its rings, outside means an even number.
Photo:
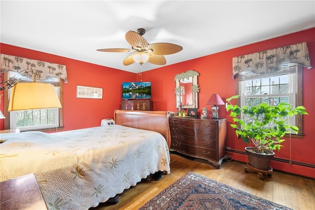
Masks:
[[[176,108],[198,108],[198,76],[194,70],[179,73],[175,76]]]

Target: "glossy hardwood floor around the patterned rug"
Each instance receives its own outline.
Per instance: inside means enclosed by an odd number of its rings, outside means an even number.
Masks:
[[[220,170],[209,162],[171,154],[171,173],[159,181],[142,181],[119,195],[119,203],[100,204],[90,210],[136,210],[189,171],[217,180],[231,187],[284,205],[294,210],[315,210],[315,179],[273,171],[271,177],[260,180],[253,172],[245,173],[245,163],[223,162]]]

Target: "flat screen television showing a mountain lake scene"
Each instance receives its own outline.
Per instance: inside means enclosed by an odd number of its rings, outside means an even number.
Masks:
[[[151,82],[123,82],[123,99],[151,99]]]

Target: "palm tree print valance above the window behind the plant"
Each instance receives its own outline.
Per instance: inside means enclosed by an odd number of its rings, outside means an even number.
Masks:
[[[241,71],[264,74],[281,70],[284,64],[295,63],[311,69],[306,42],[287,45],[233,58],[233,78]]]

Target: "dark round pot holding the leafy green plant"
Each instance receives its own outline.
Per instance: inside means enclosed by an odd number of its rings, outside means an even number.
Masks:
[[[260,154],[252,152],[251,150],[256,150],[256,147],[245,147],[249,165],[255,169],[269,171],[270,161],[274,157],[275,153],[271,150],[267,150],[267,154]]]

